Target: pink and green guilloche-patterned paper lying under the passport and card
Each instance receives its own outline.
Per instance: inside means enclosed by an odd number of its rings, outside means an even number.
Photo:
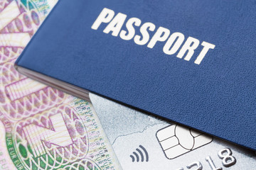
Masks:
[[[113,169],[119,165],[90,103],[14,69],[56,2],[0,0],[0,156],[6,169]]]

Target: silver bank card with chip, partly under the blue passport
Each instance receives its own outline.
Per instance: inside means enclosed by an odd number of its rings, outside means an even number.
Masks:
[[[255,169],[256,154],[231,142],[90,94],[124,170]]]

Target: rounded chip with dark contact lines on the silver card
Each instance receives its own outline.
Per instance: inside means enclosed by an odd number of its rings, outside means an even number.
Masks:
[[[168,159],[174,159],[213,141],[213,137],[181,125],[171,125],[159,130],[156,138]]]

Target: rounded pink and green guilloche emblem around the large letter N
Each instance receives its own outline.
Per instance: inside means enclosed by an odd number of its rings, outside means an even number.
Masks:
[[[15,129],[17,153],[28,169],[58,169],[84,158],[89,149],[84,123],[67,105],[21,120]]]

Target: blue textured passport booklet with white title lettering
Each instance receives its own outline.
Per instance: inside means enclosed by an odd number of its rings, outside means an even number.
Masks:
[[[256,149],[255,8],[251,0],[60,0],[16,69]]]

